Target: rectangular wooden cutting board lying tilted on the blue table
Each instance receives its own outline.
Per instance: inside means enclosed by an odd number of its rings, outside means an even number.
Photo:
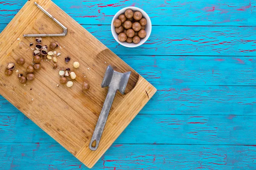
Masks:
[[[91,168],[154,95],[156,88],[50,0],[37,0],[37,3],[68,28],[66,37],[43,37],[41,43],[60,42],[56,50],[61,53],[57,57],[58,68],[53,69],[51,61],[43,61],[42,69],[35,73],[36,79],[21,85],[17,74],[26,74],[34,51],[34,45],[29,47],[29,44],[35,44],[35,37],[22,35],[62,32],[34,2],[28,1],[0,34],[0,94]],[[64,62],[67,56],[71,58],[69,63]],[[26,63],[16,64],[18,73],[14,71],[7,77],[4,74],[7,64],[18,57],[24,57]],[[72,66],[75,61],[80,63],[78,69]],[[126,94],[116,94],[98,149],[91,151],[88,145],[108,91],[101,88],[108,65],[115,71],[132,73]],[[76,73],[72,88],[57,86],[61,68],[70,68]],[[90,84],[90,90],[84,94],[82,82]]]

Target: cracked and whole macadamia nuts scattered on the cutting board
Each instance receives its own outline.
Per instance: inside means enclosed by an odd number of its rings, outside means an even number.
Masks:
[[[56,51],[48,52],[47,45],[41,45],[41,42],[42,42],[41,37],[36,37],[35,41],[37,42],[37,44],[35,45],[35,51],[33,53],[33,64],[29,65],[26,68],[26,76],[23,74],[18,74],[19,82],[24,85],[26,85],[27,81],[32,81],[35,79],[34,72],[39,71],[41,69],[42,59],[52,61],[54,69],[56,69],[58,67],[58,65],[56,63],[58,61],[58,59],[56,58],[56,56],[60,56],[61,53],[57,53]],[[33,45],[33,43],[31,42],[29,44],[29,46],[31,47],[32,45]],[[55,50],[55,48],[58,48],[58,46],[59,46],[58,42],[51,42],[49,45],[49,49]],[[68,63],[69,61],[70,61],[70,57],[66,57],[65,62]],[[17,59],[16,62],[18,65],[24,65],[25,59],[23,57],[20,57]],[[74,68],[79,68],[79,66],[80,66],[79,62],[73,63]],[[11,76],[14,69],[15,69],[15,63],[14,62],[8,63],[7,68],[5,70],[6,76]],[[18,72],[18,70],[16,70],[16,72]],[[61,84],[66,84],[67,87],[73,86],[73,82],[68,81],[67,78],[70,77],[70,79],[76,79],[76,74],[75,74],[75,72],[70,71],[70,68],[62,69],[61,71],[59,71],[59,75],[61,76],[61,78],[60,78]],[[90,87],[89,87],[88,83],[84,82],[82,84],[81,88],[82,88],[82,91],[84,92],[84,91],[89,90]]]

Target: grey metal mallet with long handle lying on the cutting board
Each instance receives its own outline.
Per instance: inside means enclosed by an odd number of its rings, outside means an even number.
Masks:
[[[113,68],[108,65],[105,76],[102,81],[102,88],[108,86],[108,94],[106,96],[105,102],[102,107],[102,111],[99,115],[98,122],[93,132],[93,137],[90,141],[90,150],[96,150],[99,146],[99,141],[102,136],[106,121],[108,119],[108,113],[111,109],[116,91],[119,90],[121,94],[125,94],[125,88],[128,83],[131,71],[126,73],[119,73],[113,70]],[[96,142],[95,147],[93,147],[93,142]]]

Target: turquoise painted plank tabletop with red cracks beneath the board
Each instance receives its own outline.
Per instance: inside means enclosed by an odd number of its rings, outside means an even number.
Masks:
[[[1,31],[25,3],[0,0]],[[256,169],[256,0],[54,3],[158,89],[94,170]],[[127,6],[151,17],[140,48],[111,35]],[[1,97],[0,169],[87,167]]]

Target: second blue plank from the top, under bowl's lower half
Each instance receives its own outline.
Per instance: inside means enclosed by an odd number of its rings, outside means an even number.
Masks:
[[[256,56],[256,27],[153,26],[138,48],[119,45],[110,26],[84,28],[117,55]]]

